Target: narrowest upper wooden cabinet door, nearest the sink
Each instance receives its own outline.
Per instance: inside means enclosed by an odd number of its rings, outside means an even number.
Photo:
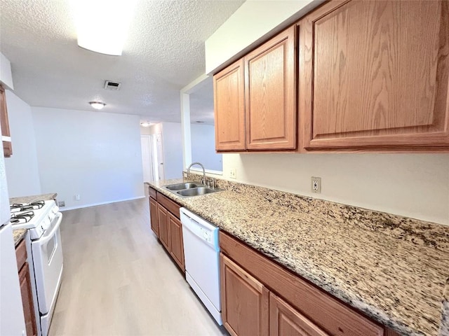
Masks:
[[[243,59],[213,76],[215,149],[245,151]]]

